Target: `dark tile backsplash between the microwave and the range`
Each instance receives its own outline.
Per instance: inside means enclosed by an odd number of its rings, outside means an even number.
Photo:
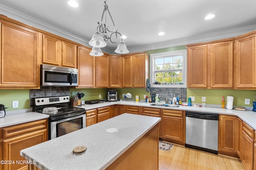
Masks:
[[[29,91],[30,96],[30,107],[33,106],[33,98],[44,98],[44,97],[54,97],[54,96],[70,96],[70,90],[68,87],[44,87],[41,86],[40,89],[32,89]]]

